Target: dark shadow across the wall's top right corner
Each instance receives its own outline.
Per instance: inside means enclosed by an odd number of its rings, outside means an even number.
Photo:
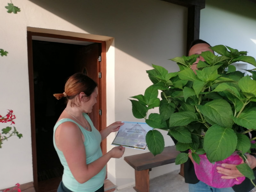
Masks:
[[[256,0],[206,0],[206,9],[207,6],[213,6],[256,20]]]

